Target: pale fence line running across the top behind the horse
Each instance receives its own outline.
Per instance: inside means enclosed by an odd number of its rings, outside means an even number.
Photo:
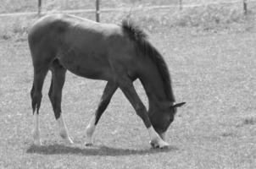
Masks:
[[[247,3],[255,3],[256,0],[247,1]],[[202,6],[209,6],[209,5],[218,5],[218,4],[234,4],[234,3],[242,3],[242,1],[234,1],[234,2],[220,2],[220,3],[201,3],[201,4],[183,4],[182,8],[196,8]],[[180,8],[180,5],[154,5],[154,6],[147,6],[147,7],[137,7],[137,8],[102,8],[100,12],[115,12],[115,11],[138,11],[138,10],[150,10],[150,9],[167,9],[167,8]],[[95,13],[95,9],[73,9],[73,10],[60,10],[60,11],[50,11],[50,12],[42,12],[42,14],[54,14],[54,13],[66,13],[66,14],[79,14],[79,13]],[[21,15],[35,15],[38,14],[37,12],[24,12],[24,13],[9,13],[9,14],[0,14],[0,17],[8,17],[8,16],[21,16]]]

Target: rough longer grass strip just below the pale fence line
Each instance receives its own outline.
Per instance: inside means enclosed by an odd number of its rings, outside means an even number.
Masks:
[[[137,3],[137,2],[136,2]],[[127,3],[128,4],[128,3]],[[129,3],[131,4],[131,3]],[[220,32],[220,31],[252,31],[255,28],[256,8],[250,5],[248,14],[244,15],[240,5],[213,4],[197,8],[148,9],[103,12],[100,20],[103,23],[120,24],[120,20],[130,18],[148,32],[156,33],[159,28],[164,30],[187,28],[189,32]],[[55,11],[56,12],[56,11]],[[55,13],[53,12],[53,13]],[[56,12],[58,13],[58,12]],[[94,13],[76,14],[86,19],[95,20]],[[16,39],[25,41],[27,31],[38,19],[35,15],[26,17],[1,17],[0,40]]]

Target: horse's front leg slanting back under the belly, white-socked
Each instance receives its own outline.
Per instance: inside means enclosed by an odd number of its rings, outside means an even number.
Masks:
[[[107,85],[105,86],[103,95],[97,106],[97,111],[95,112],[90,123],[86,127],[86,146],[92,145],[93,143],[92,135],[95,131],[96,125],[100,117],[103,115],[103,112],[106,110],[107,106],[109,105],[109,102],[112,96],[114,95],[114,91],[116,89],[117,89],[117,85],[114,84],[113,82],[108,82]]]

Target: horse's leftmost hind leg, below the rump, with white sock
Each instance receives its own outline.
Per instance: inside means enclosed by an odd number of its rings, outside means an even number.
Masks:
[[[34,116],[34,129],[32,131],[34,144],[42,144],[39,131],[39,109],[42,101],[42,85],[47,75],[47,71],[47,68],[34,68],[34,81],[31,89],[31,100]]]

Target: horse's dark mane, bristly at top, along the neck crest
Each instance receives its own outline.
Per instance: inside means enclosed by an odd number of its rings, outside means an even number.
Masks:
[[[171,88],[171,79],[169,69],[164,62],[164,58],[158,52],[158,50],[147,41],[147,34],[131,20],[124,19],[122,21],[122,29],[129,36],[132,41],[136,42],[137,49],[142,52],[143,55],[150,57],[159,69],[159,74],[164,82],[164,90],[170,101],[175,101],[175,96]]]

